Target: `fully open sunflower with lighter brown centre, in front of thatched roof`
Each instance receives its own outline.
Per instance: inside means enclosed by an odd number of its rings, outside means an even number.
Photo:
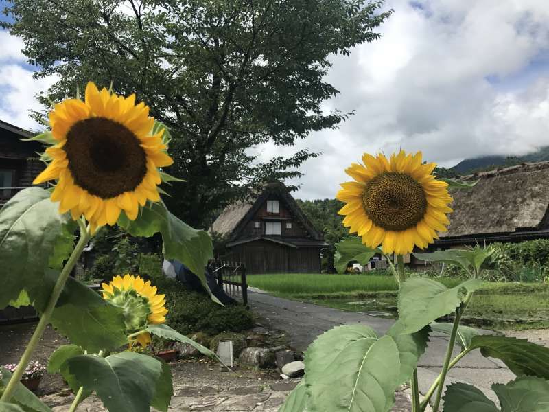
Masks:
[[[435,164],[422,164],[421,152],[401,150],[387,159],[365,153],[364,165],[345,170],[355,181],[342,183],[337,198],[347,203],[339,211],[350,233],[362,236],[368,247],[382,245],[384,253],[404,255],[421,249],[446,231],[452,209],[448,184],[432,174]]]

